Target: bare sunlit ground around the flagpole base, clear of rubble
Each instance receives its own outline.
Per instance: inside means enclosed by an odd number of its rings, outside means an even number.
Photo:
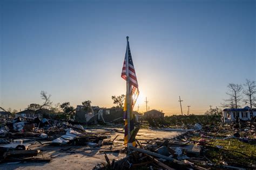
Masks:
[[[122,149],[124,148],[124,134],[122,133],[123,129],[114,129],[118,130],[118,132],[109,132],[111,128],[90,129],[86,131],[103,133],[108,137],[105,140],[112,140],[118,134],[119,136],[116,138],[116,140],[114,140],[112,150]],[[146,139],[173,138],[179,134],[181,134],[181,132],[140,129],[137,139],[143,143]],[[100,164],[100,162],[106,162],[104,153],[101,153],[100,151],[109,150],[110,147],[110,145],[105,145],[100,148],[90,146],[50,146],[36,143],[32,144],[29,149],[41,150],[42,154],[37,157],[52,158],[50,162],[4,163],[0,164],[0,169],[92,169],[97,164]],[[110,160],[125,157],[125,153],[106,152],[106,154]]]

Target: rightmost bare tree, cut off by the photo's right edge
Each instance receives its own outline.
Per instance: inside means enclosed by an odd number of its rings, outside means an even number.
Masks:
[[[256,85],[255,81],[251,81],[246,79],[246,83],[244,84],[245,88],[242,93],[245,94],[246,98],[243,100],[245,104],[250,104],[250,107],[256,107],[256,98],[254,94],[256,94]]]

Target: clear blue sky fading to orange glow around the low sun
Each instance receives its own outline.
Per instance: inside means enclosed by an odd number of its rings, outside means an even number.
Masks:
[[[255,1],[1,1],[1,106],[91,100],[111,107],[126,36],[140,111],[203,113],[255,80]]]

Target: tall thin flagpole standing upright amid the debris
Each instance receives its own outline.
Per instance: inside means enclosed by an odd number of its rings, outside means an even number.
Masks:
[[[130,97],[130,79],[129,79],[129,37],[126,37],[127,40],[127,47],[126,47],[126,107],[127,107],[127,132],[128,132],[128,141],[131,138],[131,118],[130,118],[130,105],[131,105],[131,97]],[[129,152],[129,146],[131,143],[127,143],[127,150]]]

